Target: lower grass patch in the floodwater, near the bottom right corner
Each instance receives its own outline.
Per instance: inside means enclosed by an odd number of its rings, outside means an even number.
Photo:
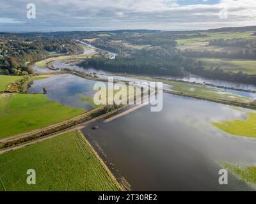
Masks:
[[[256,166],[242,166],[233,163],[221,163],[221,166],[252,186],[256,185]]]

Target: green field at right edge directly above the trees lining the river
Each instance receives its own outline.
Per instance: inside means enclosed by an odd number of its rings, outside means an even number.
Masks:
[[[220,67],[225,71],[239,72],[243,71],[249,75],[256,74],[256,61],[255,60],[236,60],[236,59],[220,59],[220,58],[198,58],[202,61],[205,68]]]

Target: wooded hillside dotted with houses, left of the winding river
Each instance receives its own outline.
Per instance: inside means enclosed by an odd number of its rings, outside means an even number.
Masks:
[[[76,53],[83,53],[83,47],[74,41],[28,34],[0,34],[0,69],[4,75],[29,75],[33,69],[28,62],[52,54]]]

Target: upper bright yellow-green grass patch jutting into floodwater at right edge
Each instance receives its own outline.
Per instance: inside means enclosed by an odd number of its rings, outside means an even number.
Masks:
[[[246,120],[231,120],[212,123],[217,128],[236,136],[256,138],[256,113],[247,113]]]

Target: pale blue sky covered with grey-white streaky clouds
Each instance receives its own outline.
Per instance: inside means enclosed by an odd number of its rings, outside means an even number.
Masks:
[[[0,0],[0,31],[191,30],[256,25],[256,0]],[[31,17],[27,5],[36,6]],[[29,11],[29,13],[28,13]]]

